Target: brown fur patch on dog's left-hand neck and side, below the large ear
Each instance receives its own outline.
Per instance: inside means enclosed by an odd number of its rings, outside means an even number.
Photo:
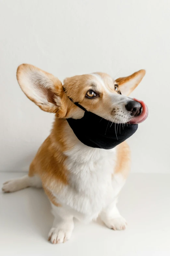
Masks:
[[[50,136],[39,148],[33,162],[30,165],[29,176],[37,174],[42,180],[43,187],[48,187],[54,191],[54,183],[66,185],[67,169],[64,165],[66,156],[64,151],[70,149],[66,145],[64,128],[67,124],[65,119],[55,119]]]

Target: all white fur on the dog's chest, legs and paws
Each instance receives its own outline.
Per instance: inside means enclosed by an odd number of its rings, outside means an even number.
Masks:
[[[116,208],[117,196],[125,182],[121,174],[114,174],[116,149],[92,148],[77,140],[75,147],[65,154],[69,185],[58,194],[51,191],[62,205],[52,204],[51,243],[63,243],[70,238],[74,228],[73,217],[89,222],[100,214],[107,227],[125,229],[126,221]],[[28,186],[41,187],[41,181],[37,176],[26,175],[6,182],[3,191],[13,192]]]

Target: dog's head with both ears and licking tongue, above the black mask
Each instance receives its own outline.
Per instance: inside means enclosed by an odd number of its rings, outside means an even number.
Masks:
[[[145,103],[128,97],[144,76],[145,70],[139,70],[114,81],[105,73],[92,73],[66,78],[62,85],[57,77],[35,66],[22,64],[17,70],[22,91],[42,110],[59,118],[77,119],[84,115],[73,104],[78,102],[86,110],[117,123],[140,123],[146,119]]]

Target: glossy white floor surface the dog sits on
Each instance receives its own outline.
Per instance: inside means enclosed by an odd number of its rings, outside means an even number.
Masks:
[[[22,175],[0,173],[0,182]],[[53,216],[43,190],[1,192],[0,255],[170,255],[170,175],[131,174],[120,193],[118,208],[128,222],[126,230],[109,230],[100,220],[87,225],[75,221],[71,239],[53,245],[47,241]]]

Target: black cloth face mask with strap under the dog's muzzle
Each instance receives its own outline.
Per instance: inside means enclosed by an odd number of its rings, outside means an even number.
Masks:
[[[68,98],[73,102],[70,97]],[[80,119],[67,118],[67,122],[76,137],[87,146],[111,149],[132,136],[138,128],[137,124],[112,123],[87,111],[78,102],[73,103],[85,113]]]

